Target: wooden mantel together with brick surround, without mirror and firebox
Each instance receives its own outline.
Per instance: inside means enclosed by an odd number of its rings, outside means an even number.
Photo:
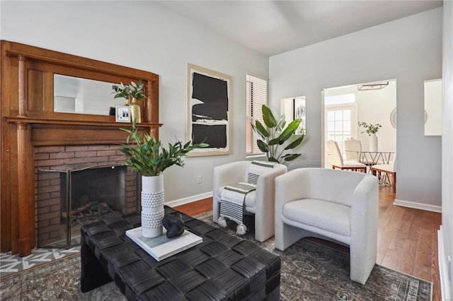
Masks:
[[[1,40],[0,46],[0,251],[28,256],[38,244],[56,239],[56,221],[62,219],[61,204],[56,203],[61,199],[61,177],[57,180],[51,172],[41,175],[38,170],[120,165],[125,158],[119,144],[127,138],[120,128],[130,127],[116,122],[115,116],[57,112],[55,74],[105,83],[142,80],[145,99],[137,126],[141,134],[158,140],[159,75],[16,42]],[[130,170],[122,177],[130,179],[120,206],[128,213],[137,207],[138,181]],[[54,191],[56,187],[60,190]]]

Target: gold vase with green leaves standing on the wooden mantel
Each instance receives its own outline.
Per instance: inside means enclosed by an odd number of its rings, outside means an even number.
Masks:
[[[130,82],[130,85],[120,83],[113,85],[115,96],[113,98],[125,98],[126,104],[130,107],[130,117],[132,122],[142,122],[142,114],[140,113],[140,105],[137,100],[144,101],[144,83],[140,79],[139,83]]]

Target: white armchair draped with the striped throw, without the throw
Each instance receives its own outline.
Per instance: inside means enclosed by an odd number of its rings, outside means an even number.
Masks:
[[[248,167],[251,161],[238,161],[214,167],[212,179],[212,218],[219,220],[220,196],[226,185],[247,182]],[[285,165],[276,164],[264,175],[258,177],[256,190],[248,192],[244,201],[245,214],[255,215],[255,239],[264,242],[274,235],[275,178],[287,172]]]

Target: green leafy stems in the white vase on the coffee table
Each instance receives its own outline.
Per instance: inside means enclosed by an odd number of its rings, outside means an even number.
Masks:
[[[192,141],[183,144],[180,141],[168,143],[168,149],[162,146],[161,141],[149,134],[139,134],[132,122],[132,129],[121,129],[127,136],[126,143],[122,144],[120,151],[127,157],[124,165],[132,166],[134,172],[139,172],[144,176],[158,176],[172,165],[183,167],[183,157],[195,148],[205,148],[207,143],[192,144]]]

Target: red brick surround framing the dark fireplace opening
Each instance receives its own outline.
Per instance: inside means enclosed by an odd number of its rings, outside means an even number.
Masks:
[[[60,172],[40,170],[79,170],[99,165],[122,165],[125,155],[119,145],[40,146],[35,147],[35,227],[38,246],[66,239],[61,224],[62,191]],[[106,183],[109,184],[109,183]],[[124,209],[121,214],[137,211],[137,175],[130,167],[125,171]]]

